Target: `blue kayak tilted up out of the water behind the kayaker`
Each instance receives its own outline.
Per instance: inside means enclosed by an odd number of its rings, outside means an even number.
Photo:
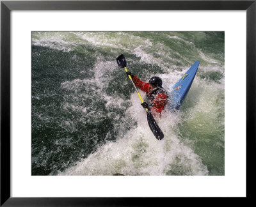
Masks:
[[[199,61],[195,61],[195,63],[189,68],[189,70],[182,75],[180,80],[172,87],[171,91],[168,93],[168,109],[171,111],[178,110],[180,105],[186,98],[188,91],[194,81],[197,69],[199,66]]]

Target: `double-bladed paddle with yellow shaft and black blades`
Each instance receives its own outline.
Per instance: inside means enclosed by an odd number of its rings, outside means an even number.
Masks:
[[[116,62],[118,64],[118,66],[120,66],[120,68],[124,68],[125,72],[128,72],[128,70],[126,68],[126,65],[127,65],[126,64],[126,60],[125,60],[125,57],[124,57],[123,54],[116,58]],[[140,95],[138,89],[136,88],[134,82],[132,81],[131,75],[128,75],[128,76],[129,76],[129,79],[131,80],[134,88],[137,91],[137,94],[138,94],[138,96],[139,96],[139,98],[141,100],[141,103],[144,103],[143,99],[141,98],[141,95]],[[154,116],[152,116],[151,112],[148,109],[146,109],[146,112],[147,112],[148,126],[149,126],[150,130],[153,132],[153,134],[155,135],[156,139],[159,139],[159,140],[163,139],[164,138],[164,134],[163,134],[161,128],[158,127],[158,125],[156,123],[156,120],[154,119]]]

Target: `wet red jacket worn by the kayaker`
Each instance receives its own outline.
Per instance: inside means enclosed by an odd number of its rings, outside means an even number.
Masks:
[[[150,109],[152,111],[156,111],[157,113],[161,113],[163,111],[165,105],[167,104],[167,98],[168,96],[163,90],[157,90],[156,93],[150,94],[149,93],[149,86],[150,84],[148,82],[143,82],[136,75],[132,78],[132,81],[134,84],[141,89],[141,91],[145,91],[147,93],[147,97],[151,103],[148,103]]]

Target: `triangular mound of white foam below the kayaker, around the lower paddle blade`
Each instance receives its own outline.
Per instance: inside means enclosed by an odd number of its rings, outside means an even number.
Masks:
[[[182,144],[173,131],[182,120],[181,114],[166,112],[161,119],[156,118],[165,135],[162,141],[158,141],[148,127],[146,112],[140,106],[136,93],[132,93],[131,102],[127,113],[136,120],[137,126],[123,138],[104,144],[60,175],[165,175],[172,174],[172,171],[188,175],[208,173],[200,157],[191,147]]]

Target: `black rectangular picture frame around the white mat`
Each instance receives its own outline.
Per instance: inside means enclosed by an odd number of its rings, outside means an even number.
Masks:
[[[152,201],[157,203],[160,201],[163,204],[166,199],[170,199],[163,197],[10,197],[10,11],[12,10],[246,10],[246,198],[253,197],[251,189],[254,187],[255,176],[251,166],[255,165],[253,152],[256,146],[256,0],[1,1],[1,206],[150,206],[153,204]],[[198,204],[197,199],[196,204]]]

